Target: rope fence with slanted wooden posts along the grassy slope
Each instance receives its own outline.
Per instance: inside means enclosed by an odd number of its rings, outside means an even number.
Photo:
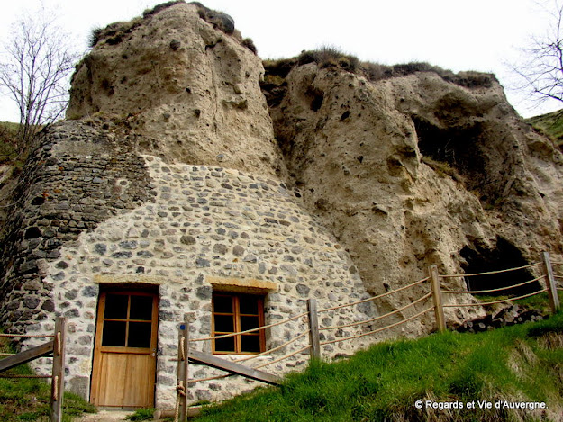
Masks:
[[[299,355],[299,354],[304,354],[307,351],[309,352],[310,358],[311,359],[320,359],[322,357],[321,354],[321,346],[328,346],[331,344],[335,344],[335,343],[341,343],[341,342],[348,342],[360,337],[367,337],[367,336],[372,336],[374,334],[380,333],[382,331],[391,329],[391,328],[395,328],[398,327],[400,325],[403,325],[407,322],[413,321],[414,319],[418,319],[421,318],[425,315],[427,315],[428,313],[430,313],[432,310],[434,310],[434,319],[435,319],[435,324],[438,328],[439,331],[444,331],[447,328],[447,323],[446,323],[446,319],[444,316],[444,309],[451,309],[451,308],[466,308],[466,307],[482,307],[482,306],[486,306],[486,305],[493,305],[493,304],[498,304],[498,303],[506,303],[506,302],[510,302],[510,301],[518,301],[521,299],[525,299],[525,298],[529,298],[531,296],[535,296],[541,293],[548,293],[549,296],[549,306],[550,309],[553,312],[556,312],[560,305],[559,305],[559,300],[558,300],[558,291],[563,291],[563,287],[559,287],[556,283],[556,281],[561,281],[563,280],[563,267],[560,268],[560,273],[559,274],[555,274],[553,272],[553,265],[563,265],[563,262],[558,262],[558,261],[554,261],[551,262],[549,259],[549,254],[547,252],[543,253],[543,259],[542,262],[537,262],[537,263],[533,263],[533,264],[529,264],[529,265],[521,265],[521,266],[517,266],[514,268],[507,268],[507,269],[502,269],[502,270],[494,270],[494,271],[488,271],[488,272],[482,272],[482,273],[473,273],[473,274],[439,274],[438,272],[438,268],[436,265],[431,265],[431,267],[429,268],[429,276],[422,278],[421,280],[418,280],[416,282],[413,283],[409,283],[404,285],[403,287],[397,288],[395,290],[389,291],[389,292],[384,292],[381,294],[377,294],[376,296],[372,296],[369,297],[367,299],[362,299],[359,301],[352,301],[350,303],[345,303],[345,304],[341,304],[341,305],[336,305],[336,306],[332,306],[330,308],[324,308],[324,309],[320,309],[317,310],[317,306],[316,306],[316,300],[314,299],[309,299],[307,301],[307,311],[306,312],[302,312],[299,313],[291,318],[287,318],[287,319],[282,319],[279,320],[277,322],[268,324],[268,325],[264,325],[258,328],[250,328],[244,331],[240,331],[240,332],[235,332],[235,333],[229,333],[229,334],[224,334],[224,335],[219,335],[219,336],[208,336],[208,337],[197,337],[197,338],[188,338],[188,334],[187,334],[187,328],[185,326],[182,326],[183,331],[181,330],[180,333],[180,337],[181,337],[181,341],[179,343],[178,346],[178,386],[177,386],[177,391],[178,391],[178,400],[181,400],[181,403],[177,404],[177,415],[182,415],[183,411],[185,411],[186,409],[186,391],[185,391],[185,387],[188,387],[190,385],[194,385],[196,382],[206,382],[206,381],[212,381],[212,380],[218,380],[218,379],[223,379],[223,378],[227,378],[227,377],[231,377],[233,375],[242,375],[242,376],[247,376],[250,377],[252,379],[255,380],[259,380],[262,381],[259,378],[256,378],[251,375],[247,375],[244,372],[240,372],[240,369],[236,369],[239,367],[242,367],[241,364],[243,363],[248,363],[249,361],[252,361],[253,359],[259,358],[259,357],[271,357],[273,358],[272,360],[268,360],[267,362],[256,362],[255,364],[251,364],[247,368],[250,372],[254,371],[256,373],[261,373],[261,368],[265,368],[269,365],[272,364],[277,364],[279,362],[282,362],[286,359],[289,359],[295,355]],[[514,283],[514,284],[510,284],[510,285],[506,285],[506,286],[502,286],[502,287],[496,287],[494,289],[482,289],[482,290],[449,290],[449,289],[444,289],[442,290],[441,287],[441,283],[444,280],[447,279],[455,279],[455,278],[465,278],[465,277],[476,277],[476,276],[481,276],[481,275],[495,275],[495,274],[508,274],[511,272],[515,272],[515,271],[521,271],[521,270],[534,270],[534,272],[537,272],[540,270],[541,274],[532,278],[531,280],[527,280],[525,282],[521,282],[521,283]],[[455,303],[454,301],[451,301],[449,298],[454,297],[454,295],[464,295],[464,297],[467,297],[465,295],[467,294],[492,294],[492,295],[498,295],[500,292],[506,292],[509,291],[510,289],[515,289],[515,288],[521,288],[523,286],[530,286],[532,283],[539,283],[539,285],[541,286],[540,289],[534,291],[534,292],[528,292],[525,294],[521,294],[519,296],[514,296],[511,295],[511,297],[508,298],[502,298],[496,301],[486,301],[486,302],[472,302],[472,303],[468,303],[468,302],[463,302],[463,303]],[[559,282],[560,283],[560,282]],[[422,287],[430,287],[431,292],[427,292],[427,293],[422,293],[422,295],[415,300],[409,300],[409,303],[405,304],[404,306],[401,306],[395,310],[392,310],[390,312],[387,312],[383,315],[377,315],[376,317],[373,318],[367,318],[367,319],[362,319],[362,320],[356,320],[356,321],[352,321],[352,322],[346,322],[340,325],[330,325],[330,319],[332,318],[333,314],[330,313],[328,316],[329,321],[328,321],[328,325],[322,327],[319,325],[318,319],[322,314],[326,314],[328,312],[332,312],[335,310],[344,310],[344,309],[351,309],[351,307],[360,305],[362,303],[367,303],[367,302],[374,302],[377,301],[379,299],[382,299],[386,296],[389,295],[393,295],[396,294],[398,292],[404,292],[408,289],[413,289],[417,286],[422,286]],[[420,289],[419,291],[420,292]],[[423,291],[422,291],[423,292]],[[443,298],[442,298],[442,293],[444,295],[444,297],[447,299],[447,303],[443,302]],[[420,293],[419,293],[420,294]],[[428,301],[432,301],[432,304],[429,305],[427,304],[423,310],[415,310],[415,308],[417,307],[417,305],[419,304],[423,304],[423,302],[428,302]],[[388,317],[392,317],[395,316],[397,314],[401,314],[402,312],[408,312],[411,313],[412,311],[415,311],[415,313],[411,316],[408,317],[404,317],[399,321],[395,321],[393,323],[386,323],[385,326],[380,327],[380,328],[376,328],[376,329],[370,329],[369,331],[365,331],[362,332],[362,328],[360,328],[359,326],[363,326],[366,324],[372,324],[374,322],[380,321],[382,319],[386,319]],[[352,315],[359,315],[359,314],[364,314],[364,311],[361,312],[354,312],[353,310],[350,310],[350,313]],[[303,321],[301,321],[300,323],[303,324],[305,320],[307,320],[308,322],[308,329],[305,329],[303,332],[301,332],[300,334],[287,339],[284,343],[275,346],[269,350],[260,352],[260,353],[256,353],[256,354],[252,354],[252,355],[246,355],[244,357],[239,357],[236,359],[231,359],[229,361],[222,359],[222,358],[217,358],[222,362],[225,362],[224,367],[222,367],[221,365],[213,365],[213,367],[215,368],[219,368],[222,371],[228,372],[228,373],[224,373],[221,375],[214,375],[214,376],[207,376],[207,377],[203,377],[203,378],[197,378],[197,379],[188,379],[187,378],[187,358],[186,356],[188,356],[188,349],[189,349],[189,345],[190,344],[195,344],[197,342],[203,342],[203,341],[215,341],[217,339],[222,339],[222,338],[229,338],[229,337],[235,337],[235,336],[241,336],[244,334],[248,334],[248,333],[255,333],[255,332],[259,332],[259,331],[263,331],[263,330],[267,330],[269,328],[274,328],[277,326],[280,326],[282,324],[286,324],[288,322],[291,321],[295,321],[297,319],[303,319]],[[326,321],[325,321],[326,322]],[[355,334],[349,335],[350,333],[338,333],[335,335],[347,335],[347,337],[331,337],[329,336],[329,338],[326,338],[324,336],[322,336],[321,332],[327,332],[330,330],[342,330],[343,328],[356,328],[358,331]],[[372,328],[372,327],[368,327]],[[364,328],[365,329],[365,328]],[[182,334],[183,333],[183,334]],[[352,331],[353,333],[353,331]],[[183,336],[183,337],[182,337]],[[304,341],[305,337],[309,337],[309,341],[308,344],[306,346],[303,346],[303,343],[299,344],[298,342],[300,341]],[[321,341],[322,338],[322,341]],[[293,347],[292,347],[293,345]],[[186,349],[184,348],[186,347]],[[280,351],[282,351],[283,349],[285,349],[285,354],[284,355],[277,355]],[[291,350],[291,349],[295,349],[295,350]],[[198,354],[201,352],[198,352]],[[191,358],[191,355],[189,355]],[[221,356],[221,355],[213,355],[213,356]],[[182,370],[182,379],[180,377],[180,364],[185,365],[185,369]],[[205,364],[205,363],[204,363]],[[229,366],[230,364],[233,365],[239,365],[237,366],[235,369],[231,369],[231,366]],[[250,363],[249,363],[250,364]],[[268,375],[268,373],[265,373],[266,375]],[[273,375],[271,375],[273,376]],[[268,378],[265,378],[268,379]],[[183,380],[183,381],[182,381]],[[268,382],[268,381],[265,381]]]

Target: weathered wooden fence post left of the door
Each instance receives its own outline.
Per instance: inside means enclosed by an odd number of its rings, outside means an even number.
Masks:
[[[58,317],[55,320],[55,337],[53,338],[53,373],[50,383],[50,421],[62,420],[62,398],[65,392],[65,346],[67,319]]]

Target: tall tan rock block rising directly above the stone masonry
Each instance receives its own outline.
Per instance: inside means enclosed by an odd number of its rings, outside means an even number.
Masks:
[[[168,161],[285,176],[261,60],[206,11],[178,3],[110,25],[77,66],[67,117],[122,120]]]

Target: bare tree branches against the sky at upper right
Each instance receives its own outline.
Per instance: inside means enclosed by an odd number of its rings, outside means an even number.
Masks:
[[[511,65],[519,77],[523,91],[538,98],[563,103],[563,4],[554,2],[554,10],[547,10],[549,25],[543,36],[532,36],[528,47],[522,49],[524,59]]]

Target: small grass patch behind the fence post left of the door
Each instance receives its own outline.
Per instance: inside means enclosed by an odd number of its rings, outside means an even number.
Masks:
[[[13,353],[4,338],[0,351]],[[5,374],[31,375],[28,365],[20,365],[5,371]],[[3,422],[49,420],[50,385],[39,379],[0,379],[0,420]],[[95,412],[95,406],[76,394],[65,392],[63,398],[63,421],[70,422],[83,413]]]

